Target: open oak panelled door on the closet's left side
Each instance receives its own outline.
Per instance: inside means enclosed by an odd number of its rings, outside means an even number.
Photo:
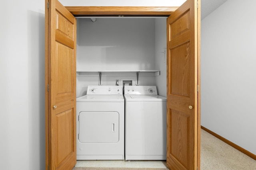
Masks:
[[[58,0],[49,0],[47,10],[46,164],[50,170],[71,170],[76,164],[76,18]]]

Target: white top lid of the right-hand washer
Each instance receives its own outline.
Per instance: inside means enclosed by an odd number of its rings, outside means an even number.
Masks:
[[[166,102],[166,98],[158,95],[124,95],[126,102]]]

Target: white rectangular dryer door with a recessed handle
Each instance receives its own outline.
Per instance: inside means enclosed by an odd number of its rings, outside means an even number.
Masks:
[[[78,115],[80,143],[117,143],[119,113],[116,111],[81,111]]]

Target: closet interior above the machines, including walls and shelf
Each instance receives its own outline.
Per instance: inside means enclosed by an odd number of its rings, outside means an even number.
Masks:
[[[88,85],[157,86],[166,97],[166,16],[79,16],[76,96]]]

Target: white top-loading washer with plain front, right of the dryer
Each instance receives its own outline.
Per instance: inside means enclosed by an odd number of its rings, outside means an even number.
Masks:
[[[166,160],[166,98],[156,86],[124,86],[125,159]]]

